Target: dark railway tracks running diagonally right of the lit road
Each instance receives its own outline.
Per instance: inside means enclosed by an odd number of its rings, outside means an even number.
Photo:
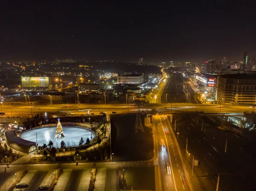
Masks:
[[[172,126],[175,131],[174,127]],[[215,181],[219,173],[224,173],[220,181],[220,188],[226,190],[253,190],[253,185],[248,177],[239,175],[240,169],[228,160],[204,133],[195,127],[195,124],[185,116],[176,116],[176,137],[179,132],[178,142],[181,147],[186,147],[188,138],[188,152],[195,156],[207,169],[209,176]],[[224,146],[224,145],[223,145]]]

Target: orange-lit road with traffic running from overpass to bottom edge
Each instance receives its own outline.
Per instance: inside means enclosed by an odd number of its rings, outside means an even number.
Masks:
[[[154,126],[157,131],[159,169],[161,186],[164,191],[189,191],[189,180],[187,180],[183,169],[182,158],[175,144],[175,137],[170,132],[166,116],[155,116]],[[166,132],[168,134],[166,134]],[[166,151],[163,151],[160,140],[166,144]]]

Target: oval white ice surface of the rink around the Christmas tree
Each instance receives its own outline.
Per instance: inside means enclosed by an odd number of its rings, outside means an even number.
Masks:
[[[70,146],[79,145],[79,140],[81,137],[84,138],[84,142],[86,141],[87,137],[92,136],[95,137],[94,132],[91,134],[90,130],[86,128],[79,128],[79,127],[64,127],[62,126],[65,137],[62,139],[55,139],[55,132],[56,127],[46,127],[46,128],[35,128],[30,131],[26,131],[21,135],[21,138],[29,141],[36,142],[36,134],[37,134],[37,142],[38,145],[41,146],[44,143],[48,145],[49,140],[53,142],[54,147],[60,147],[61,141],[63,140],[66,143],[66,146],[68,146],[68,143]],[[75,143],[73,143],[75,142]]]

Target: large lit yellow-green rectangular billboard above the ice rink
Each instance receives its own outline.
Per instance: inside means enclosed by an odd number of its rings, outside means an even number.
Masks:
[[[22,87],[49,87],[49,77],[21,77]]]

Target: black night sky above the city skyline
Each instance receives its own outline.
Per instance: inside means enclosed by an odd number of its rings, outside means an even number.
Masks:
[[[0,61],[71,57],[135,62],[143,57],[146,63],[157,63],[223,56],[241,60],[242,50],[256,48],[253,1],[4,2]]]

